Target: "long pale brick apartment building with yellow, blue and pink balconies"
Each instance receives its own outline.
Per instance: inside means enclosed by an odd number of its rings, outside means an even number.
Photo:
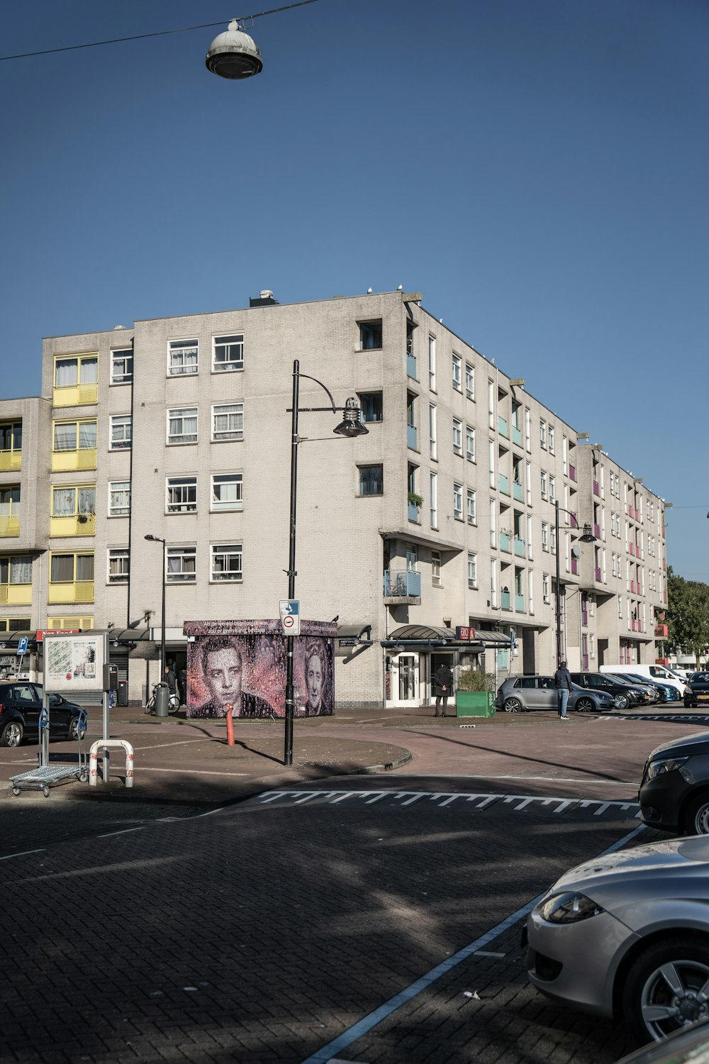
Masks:
[[[420,293],[261,293],[48,338],[41,397],[0,404],[6,668],[19,632],[36,666],[37,631],[106,629],[139,699],[158,678],[163,551],[178,667],[185,620],[278,615],[294,360],[296,595],[302,616],[337,618],[336,705],[425,703],[442,661],[553,669],[557,616],[574,666],[654,660],[662,500]],[[333,433],[348,397],[368,429],[355,438]]]

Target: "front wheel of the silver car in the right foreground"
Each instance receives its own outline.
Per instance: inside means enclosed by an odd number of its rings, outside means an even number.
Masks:
[[[640,1045],[657,1042],[709,1015],[700,993],[709,980],[709,945],[677,937],[648,946],[634,962],[623,988],[623,1015]]]

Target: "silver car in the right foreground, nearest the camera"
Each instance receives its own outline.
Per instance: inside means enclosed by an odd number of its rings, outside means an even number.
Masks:
[[[708,896],[709,838],[593,858],[529,914],[529,979],[557,1001],[622,1017],[638,1043],[703,1020]]]

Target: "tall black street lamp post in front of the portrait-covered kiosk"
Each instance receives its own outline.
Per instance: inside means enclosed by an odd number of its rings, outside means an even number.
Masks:
[[[300,406],[299,403],[299,393],[300,393],[300,380],[304,377],[308,381],[315,381],[320,387],[327,393],[327,398],[330,399],[330,406]],[[304,413],[315,413],[318,411],[328,411],[332,414],[336,414],[338,408],[335,405],[335,400],[327,387],[319,381],[316,377],[308,377],[307,373],[301,373],[301,364],[296,359],[293,362],[293,392],[292,392],[292,406],[290,409],[290,518],[288,522],[288,598],[296,598],[296,510],[297,510],[297,499],[298,499],[298,445],[300,443],[298,438],[298,415]],[[347,400],[344,408],[342,408],[343,420],[333,429],[333,432],[338,436],[344,436],[345,438],[352,438],[353,436],[362,436],[369,429],[367,429],[359,420],[359,406],[357,400],[350,398]],[[286,734],[285,734],[285,750],[283,763],[284,765],[292,765],[293,763],[293,716],[294,716],[294,697],[293,697],[293,638],[292,635],[286,636]]]

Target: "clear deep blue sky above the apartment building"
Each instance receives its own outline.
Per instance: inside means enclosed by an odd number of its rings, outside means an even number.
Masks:
[[[0,51],[248,12],[34,0]],[[403,284],[672,501],[709,582],[707,0],[318,0],[255,20],[247,82],[221,28],[0,63],[0,394],[45,335]]]

